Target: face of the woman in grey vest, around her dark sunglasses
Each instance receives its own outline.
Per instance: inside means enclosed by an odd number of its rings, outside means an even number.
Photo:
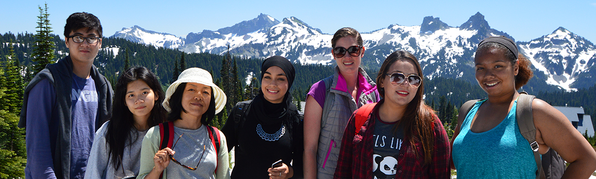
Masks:
[[[344,47],[345,49],[358,45],[358,42],[352,36],[342,37],[336,42],[336,47]],[[333,49],[331,49],[331,55],[333,55]],[[343,75],[347,75],[358,73],[358,67],[360,66],[362,57],[364,57],[364,47],[362,47],[359,56],[352,56],[346,52],[346,55],[343,57],[337,58],[333,56],[333,59],[336,60],[339,71],[342,72]]]

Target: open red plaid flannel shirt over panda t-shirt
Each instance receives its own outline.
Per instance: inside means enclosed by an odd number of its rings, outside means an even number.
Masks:
[[[378,104],[383,103],[380,101]],[[343,133],[337,168],[333,178],[373,178],[373,131],[378,114],[375,106],[371,117],[362,125],[358,136],[355,136],[356,110],[347,123]],[[412,151],[408,135],[399,150],[398,172],[396,178],[450,178],[451,167],[449,157],[449,139],[438,117],[434,120],[434,154],[432,162],[424,165],[424,159],[417,157]],[[423,154],[422,143],[415,143],[418,154]]]

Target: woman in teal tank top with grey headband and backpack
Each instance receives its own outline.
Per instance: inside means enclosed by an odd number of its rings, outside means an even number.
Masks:
[[[459,116],[452,145],[458,178],[536,178],[532,149],[517,126],[517,90],[532,78],[530,62],[513,40],[489,37],[474,56],[476,81],[488,94],[467,116]],[[569,162],[563,178],[588,178],[596,152],[567,117],[545,101],[532,101],[540,154],[554,149]]]

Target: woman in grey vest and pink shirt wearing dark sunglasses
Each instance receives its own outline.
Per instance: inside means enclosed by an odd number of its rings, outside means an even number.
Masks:
[[[305,178],[333,178],[347,120],[359,107],[379,100],[374,81],[360,68],[363,45],[360,33],[349,27],[331,39],[335,73],[313,84],[306,97]]]

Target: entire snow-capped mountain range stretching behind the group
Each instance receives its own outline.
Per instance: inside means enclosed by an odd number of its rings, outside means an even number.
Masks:
[[[151,41],[149,37],[153,36],[129,33],[132,29],[135,28],[125,28],[123,31],[128,31],[121,34],[130,34],[134,37],[128,38],[136,38],[136,41],[144,41],[145,44]],[[378,69],[390,53],[407,50],[418,57],[426,78],[444,76],[475,83],[472,68],[474,51],[482,39],[490,36],[505,36],[514,40],[507,33],[491,28],[480,12],[458,27],[449,26],[432,16],[425,17],[421,25],[393,24],[370,33],[362,33],[366,49],[362,65]],[[230,53],[237,56],[281,55],[293,62],[333,64],[333,56],[330,53],[332,37],[332,34],[321,33],[321,30],[296,17],[284,18],[280,22],[269,15],[260,14],[253,20],[243,21],[232,27],[189,33],[184,43],[179,46],[163,47],[187,53],[207,52],[222,55],[229,45]],[[162,39],[166,39],[165,36]],[[517,43],[520,52],[530,59],[535,68],[537,80],[530,81],[530,91],[533,87],[544,90],[542,88],[557,86],[573,90],[592,87],[595,84],[596,47],[590,41],[561,27],[547,36]]]

